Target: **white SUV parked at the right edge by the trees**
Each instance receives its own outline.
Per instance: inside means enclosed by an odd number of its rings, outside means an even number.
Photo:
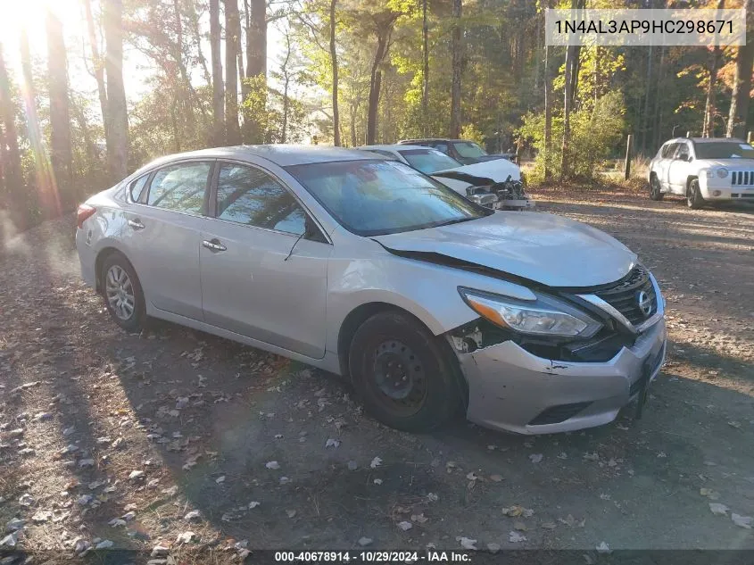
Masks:
[[[754,147],[726,137],[678,137],[650,162],[650,198],[683,195],[690,208],[707,202],[754,202]]]

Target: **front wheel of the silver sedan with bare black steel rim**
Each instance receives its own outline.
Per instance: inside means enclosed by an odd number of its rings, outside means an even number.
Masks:
[[[450,420],[461,406],[462,377],[451,355],[418,320],[391,311],[360,325],[348,360],[353,387],[377,420],[390,428],[426,432]]]

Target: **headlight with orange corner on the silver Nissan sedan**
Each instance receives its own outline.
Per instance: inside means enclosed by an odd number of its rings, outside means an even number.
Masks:
[[[584,312],[549,296],[531,303],[459,288],[460,295],[477,314],[502,328],[522,334],[592,337],[602,327]]]

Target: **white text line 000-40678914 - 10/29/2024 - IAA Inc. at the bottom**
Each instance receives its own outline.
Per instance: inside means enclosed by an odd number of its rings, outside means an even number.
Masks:
[[[427,551],[275,552],[278,563],[469,563],[470,553]]]

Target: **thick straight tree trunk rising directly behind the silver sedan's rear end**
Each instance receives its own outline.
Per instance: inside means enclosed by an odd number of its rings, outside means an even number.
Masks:
[[[123,86],[123,3],[104,1],[107,77],[107,165],[112,181],[128,175],[128,109]]]

